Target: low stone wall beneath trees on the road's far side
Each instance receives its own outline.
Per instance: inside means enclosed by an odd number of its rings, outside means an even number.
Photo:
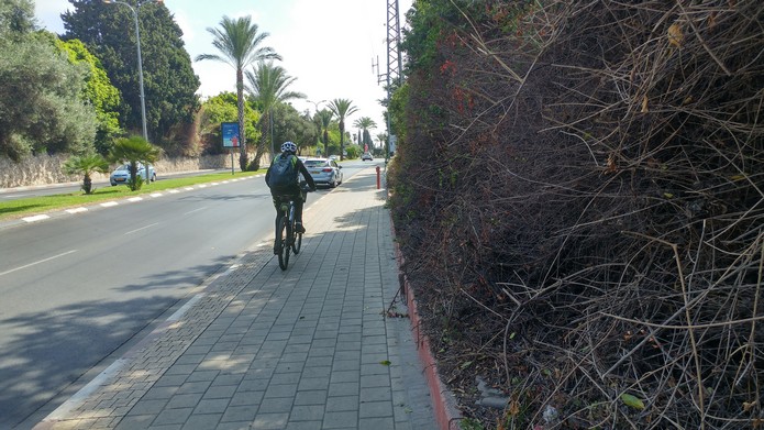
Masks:
[[[21,163],[0,157],[0,188],[13,188],[34,185],[77,183],[79,176],[66,175],[62,165],[68,155],[40,155],[27,157]],[[234,154],[234,168],[239,169],[239,156]],[[231,168],[231,155],[206,155],[201,157],[162,158],[154,164],[157,176],[170,173],[196,172],[206,169]],[[95,174],[93,180],[109,179],[109,174]]]

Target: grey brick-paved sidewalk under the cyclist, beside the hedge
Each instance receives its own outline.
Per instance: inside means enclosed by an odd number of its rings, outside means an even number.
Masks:
[[[385,192],[367,168],[321,197],[286,272],[263,238],[35,430],[436,428],[410,321],[385,318]]]

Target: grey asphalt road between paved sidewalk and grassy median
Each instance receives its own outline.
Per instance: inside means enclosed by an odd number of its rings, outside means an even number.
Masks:
[[[178,191],[0,229],[0,429],[33,426],[236,255],[270,246],[262,176]]]

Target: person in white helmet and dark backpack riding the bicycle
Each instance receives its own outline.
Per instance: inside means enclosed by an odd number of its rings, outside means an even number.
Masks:
[[[300,174],[310,186],[311,191],[315,191],[315,183],[310,176],[302,161],[297,157],[297,145],[294,142],[284,142],[281,153],[277,155],[265,174],[265,184],[270,188],[270,196],[276,208],[276,220],[278,222],[279,196],[290,196],[295,199],[295,218],[297,219],[297,232],[305,233],[302,225],[302,203],[306,200],[305,191],[300,188]]]

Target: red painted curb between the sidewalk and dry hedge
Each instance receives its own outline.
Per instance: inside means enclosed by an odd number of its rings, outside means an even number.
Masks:
[[[435,420],[438,421],[439,428],[442,430],[458,430],[462,415],[456,407],[456,399],[454,395],[449,392],[449,388],[446,388],[438,374],[435,357],[432,355],[430,349],[430,339],[420,330],[422,321],[417,312],[417,300],[413,295],[413,289],[409,285],[409,279],[406,274],[400,271],[400,267],[403,265],[403,254],[401,254],[398,243],[395,241],[396,229],[395,225],[392,225],[392,219],[390,219],[390,230],[392,230],[392,246],[396,252],[396,260],[398,261],[398,278],[406,294],[411,331],[417,342],[419,360],[421,360],[424,365],[424,376],[427,377],[430,388],[430,397],[432,398]]]

